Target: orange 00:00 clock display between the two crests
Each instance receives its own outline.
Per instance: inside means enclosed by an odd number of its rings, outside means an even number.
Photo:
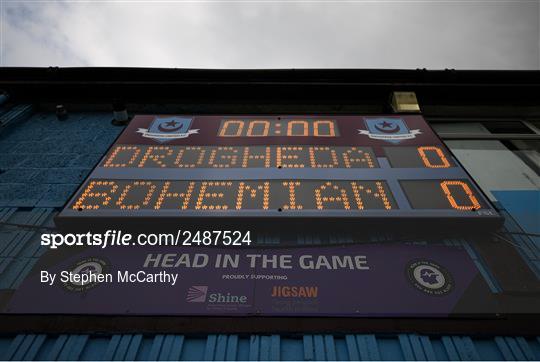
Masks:
[[[219,137],[338,137],[333,119],[224,119]]]

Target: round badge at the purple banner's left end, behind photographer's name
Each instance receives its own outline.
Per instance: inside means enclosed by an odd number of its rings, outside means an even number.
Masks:
[[[69,278],[64,282],[64,288],[72,292],[83,292],[97,286],[99,277],[107,272],[108,266],[103,259],[83,259],[69,268],[72,275],[78,278]]]

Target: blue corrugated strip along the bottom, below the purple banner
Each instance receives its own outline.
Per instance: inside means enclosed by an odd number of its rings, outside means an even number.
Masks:
[[[417,334],[112,336],[20,334],[0,338],[5,360],[538,360],[538,338]]]

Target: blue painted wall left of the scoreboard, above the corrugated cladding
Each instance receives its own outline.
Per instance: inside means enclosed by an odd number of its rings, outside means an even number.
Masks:
[[[8,125],[0,133],[0,207],[63,206],[122,131],[111,118],[36,113]]]

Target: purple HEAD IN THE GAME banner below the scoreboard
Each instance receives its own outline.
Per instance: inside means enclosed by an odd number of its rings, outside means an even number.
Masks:
[[[404,244],[49,251],[2,310],[291,317],[497,312],[492,292],[465,250]]]

